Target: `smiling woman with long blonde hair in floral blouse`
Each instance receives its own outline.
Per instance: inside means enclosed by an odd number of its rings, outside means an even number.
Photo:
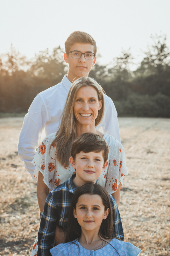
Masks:
[[[67,181],[75,172],[69,163],[71,146],[74,139],[85,132],[99,133],[110,147],[110,166],[102,172],[98,183],[114,196],[118,206],[123,176],[128,175],[128,172],[122,144],[96,129],[103,114],[104,97],[101,85],[90,77],[81,77],[74,81],[68,92],[58,131],[41,142],[32,161],[36,167],[34,176],[38,180],[37,197],[41,212],[49,189]]]

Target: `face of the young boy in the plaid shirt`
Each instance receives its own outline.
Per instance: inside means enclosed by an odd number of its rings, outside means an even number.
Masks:
[[[96,179],[108,165],[108,161],[104,163],[103,151],[76,154],[75,161],[70,157],[70,164],[76,169],[76,177],[74,184],[81,187],[87,182],[96,183]]]

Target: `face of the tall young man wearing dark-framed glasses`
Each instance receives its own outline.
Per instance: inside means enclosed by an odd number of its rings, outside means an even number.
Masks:
[[[71,51],[94,53],[94,46],[92,44],[75,43],[70,47],[69,52]],[[96,57],[93,60],[87,60],[82,54],[80,59],[75,59],[71,57],[71,53],[64,53],[64,60],[68,64],[67,78],[72,82],[75,78],[88,76],[92,66],[95,65]]]

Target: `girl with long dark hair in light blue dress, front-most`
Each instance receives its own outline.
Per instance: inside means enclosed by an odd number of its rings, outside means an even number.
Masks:
[[[110,195],[100,185],[86,183],[74,194],[70,207],[66,244],[59,244],[52,256],[139,256],[141,250],[114,238]]]

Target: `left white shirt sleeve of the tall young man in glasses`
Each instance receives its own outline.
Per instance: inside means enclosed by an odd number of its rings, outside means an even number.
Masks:
[[[35,167],[31,162],[38,148],[38,139],[47,121],[47,109],[38,94],[25,115],[18,142],[19,158],[24,161],[25,169],[31,174],[32,180],[35,180],[33,175]]]

